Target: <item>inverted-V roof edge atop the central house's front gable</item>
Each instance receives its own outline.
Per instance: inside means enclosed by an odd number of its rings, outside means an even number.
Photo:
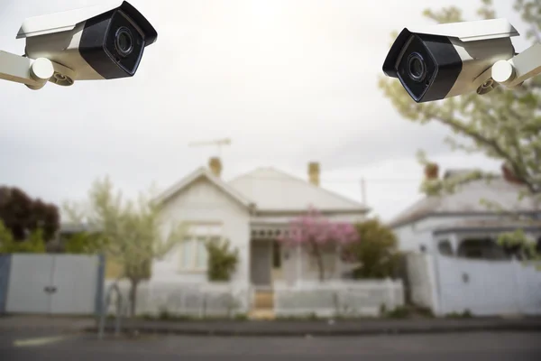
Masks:
[[[237,190],[234,190],[233,187],[225,183],[224,180],[219,179],[216,177],[212,171],[209,171],[205,167],[197,168],[196,171],[191,172],[183,179],[179,180],[176,184],[171,186],[168,190],[163,191],[158,197],[153,199],[157,203],[164,203],[167,200],[171,199],[175,195],[179,194],[181,190],[186,189],[192,182],[195,180],[198,180],[200,178],[205,178],[206,180],[209,180],[211,183],[213,183],[216,187],[218,187],[220,190],[223,190],[225,194],[233,198],[234,200],[238,201],[245,207],[252,207],[252,201],[250,199],[247,199],[244,197],[241,193],[239,193]]]

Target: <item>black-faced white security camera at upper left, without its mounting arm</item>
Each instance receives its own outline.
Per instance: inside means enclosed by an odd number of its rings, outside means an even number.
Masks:
[[[25,56],[52,61],[50,81],[132,77],[146,46],[158,33],[125,1],[26,19],[17,39],[26,38]]]

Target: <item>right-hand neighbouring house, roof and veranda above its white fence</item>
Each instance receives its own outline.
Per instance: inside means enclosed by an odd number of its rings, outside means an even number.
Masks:
[[[444,177],[470,171],[446,171]],[[399,213],[390,222],[390,227],[399,238],[400,249],[405,252],[506,258],[509,255],[495,243],[502,232],[520,228],[535,240],[541,237],[541,205],[528,197],[519,200],[521,190],[524,190],[522,185],[503,175],[490,182],[472,181],[460,186],[453,194],[418,200]],[[481,199],[499,204],[507,213],[488,208]]]

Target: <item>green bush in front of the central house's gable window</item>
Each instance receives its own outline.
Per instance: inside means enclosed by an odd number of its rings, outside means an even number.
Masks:
[[[207,277],[209,281],[230,281],[239,262],[238,250],[230,249],[229,240],[206,242],[208,253]]]

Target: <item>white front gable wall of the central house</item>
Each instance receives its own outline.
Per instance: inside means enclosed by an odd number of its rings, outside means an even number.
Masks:
[[[170,199],[162,209],[161,217],[164,235],[175,222],[221,222],[224,236],[239,250],[239,263],[232,282],[248,284],[250,216],[247,208],[202,177]],[[206,273],[180,273],[179,251],[172,250],[164,259],[154,261],[151,280],[206,282]]]

